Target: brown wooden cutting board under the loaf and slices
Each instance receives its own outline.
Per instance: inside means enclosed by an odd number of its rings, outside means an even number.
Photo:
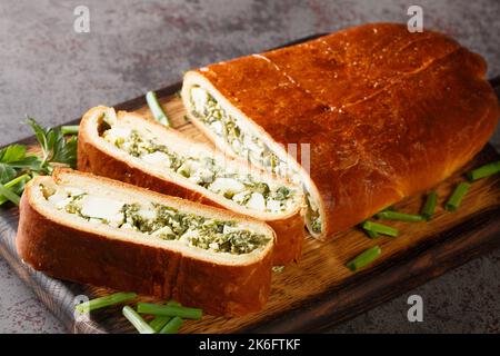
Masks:
[[[181,83],[158,90],[158,97],[176,129],[200,141],[207,139],[184,119],[177,92]],[[116,106],[150,117],[143,97]],[[78,121],[69,122],[76,123]],[[33,145],[34,138],[23,144]],[[463,170],[436,189],[439,206],[429,222],[388,222],[397,227],[398,238],[371,240],[352,228],[328,243],[308,237],[301,260],[274,273],[269,303],[258,313],[239,318],[204,316],[186,322],[181,333],[293,333],[320,332],[401,295],[447,270],[500,246],[500,176],[473,182],[457,212],[443,210],[452,188],[463,180],[463,171],[500,159],[487,146]],[[397,205],[406,212],[418,212],[424,196],[414,196]],[[16,273],[33,288],[47,307],[74,333],[128,333],[132,327],[119,307],[94,312],[88,322],[74,322],[73,299],[90,298],[113,290],[50,278],[22,264],[16,251],[19,212],[16,207],[0,208],[0,253]],[[380,245],[382,256],[367,269],[352,274],[344,264],[362,250]],[[141,300],[153,300],[140,297]]]

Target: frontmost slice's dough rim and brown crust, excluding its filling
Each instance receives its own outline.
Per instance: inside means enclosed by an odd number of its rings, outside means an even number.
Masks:
[[[267,245],[244,255],[211,253],[181,243],[90,224],[53,208],[40,185],[86,187],[101,197],[142,199],[186,212],[234,220],[270,237]],[[77,283],[137,291],[211,315],[240,316],[263,307],[271,283],[274,233],[266,224],[226,210],[166,197],[110,179],[71,170],[37,177],[20,206],[17,249],[34,269]]]

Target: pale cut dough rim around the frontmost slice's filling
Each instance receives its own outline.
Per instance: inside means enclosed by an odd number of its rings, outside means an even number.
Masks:
[[[204,250],[201,248],[189,247],[186,246],[186,244],[179,243],[178,240],[162,240],[160,238],[144,236],[144,234],[140,231],[123,231],[119,228],[109,227],[103,224],[90,224],[89,221],[86,221],[80,217],[58,210],[54,206],[47,201],[47,199],[43,198],[40,185],[47,185],[49,187],[78,187],[84,191],[94,192],[100,197],[110,200],[117,199],[128,204],[157,202],[172,207],[182,212],[199,215],[218,220],[237,221],[237,224],[241,225],[242,227],[268,236],[270,238],[270,243],[264,248],[257,249],[250,254],[231,255],[226,253],[212,253],[210,250]],[[110,239],[119,239],[132,244],[170,249],[184,256],[203,259],[207,261],[223,265],[251,264],[259,258],[262,258],[262,256],[264,256],[266,254],[269,254],[273,245],[272,241],[274,239],[274,231],[266,224],[258,220],[252,220],[250,218],[246,218],[227,210],[211,208],[184,199],[163,196],[147,189],[132,187],[116,180],[96,177],[89,174],[59,169],[54,171],[52,177],[36,177],[34,179],[32,179],[32,181],[29,182],[26,191],[27,199],[29,200],[30,205],[41,215],[47,216],[49,219],[52,219],[57,224],[72,226],[88,233],[99,233]]]

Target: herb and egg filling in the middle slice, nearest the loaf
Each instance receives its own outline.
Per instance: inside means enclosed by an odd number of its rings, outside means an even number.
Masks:
[[[264,182],[260,177],[241,174],[217,161],[213,156],[186,155],[173,151],[158,140],[141,135],[138,130],[111,123],[101,132],[101,137],[120,150],[143,162],[177,174],[217,195],[248,209],[281,212],[297,205],[300,195],[293,188],[279,182]]]

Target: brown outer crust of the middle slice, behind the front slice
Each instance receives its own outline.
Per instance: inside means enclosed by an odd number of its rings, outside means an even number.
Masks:
[[[83,116],[80,123],[81,127],[87,125],[87,121],[93,115],[94,109],[89,110]],[[141,118],[138,118],[138,120],[141,120]],[[158,130],[164,130],[164,128],[159,127]],[[78,136],[78,170],[148,188],[169,196],[227,209],[227,207],[219,201],[213,200],[201,192],[183,187],[174,180],[167,180],[154,174],[142,170],[130,161],[112,156],[98,145],[93,144],[87,136],[87,131],[83,129],[79,130]],[[264,221],[271,226],[277,234],[273,264],[276,266],[281,266],[298,260],[302,250],[302,241],[306,236],[301,211],[296,211],[296,214],[281,219]]]

